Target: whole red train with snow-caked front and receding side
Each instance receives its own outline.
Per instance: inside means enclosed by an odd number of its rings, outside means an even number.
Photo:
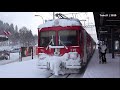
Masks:
[[[38,27],[39,68],[50,68],[50,57],[63,57],[63,67],[80,69],[88,62],[96,43],[74,18],[49,20]]]

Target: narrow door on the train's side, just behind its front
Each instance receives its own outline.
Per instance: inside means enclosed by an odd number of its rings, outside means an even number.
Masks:
[[[86,35],[86,31],[83,30],[83,34],[84,34],[84,57],[83,57],[83,63],[85,64],[87,62],[87,35]]]

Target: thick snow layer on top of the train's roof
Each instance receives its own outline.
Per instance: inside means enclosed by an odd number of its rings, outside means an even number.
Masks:
[[[55,19],[49,20],[46,23],[39,25],[38,28],[42,29],[53,26],[82,26],[82,24],[78,19]]]

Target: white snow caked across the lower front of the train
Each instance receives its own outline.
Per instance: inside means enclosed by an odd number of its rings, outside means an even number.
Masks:
[[[40,69],[50,69],[54,75],[58,76],[59,74],[64,74],[65,68],[80,68],[80,63],[80,55],[77,52],[65,53],[63,56],[49,56],[41,53],[38,67]]]

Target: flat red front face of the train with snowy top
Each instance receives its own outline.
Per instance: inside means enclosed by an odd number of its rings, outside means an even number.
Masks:
[[[81,23],[76,19],[56,19],[38,27],[38,67],[51,69],[51,62],[61,61],[61,68],[80,69]]]

